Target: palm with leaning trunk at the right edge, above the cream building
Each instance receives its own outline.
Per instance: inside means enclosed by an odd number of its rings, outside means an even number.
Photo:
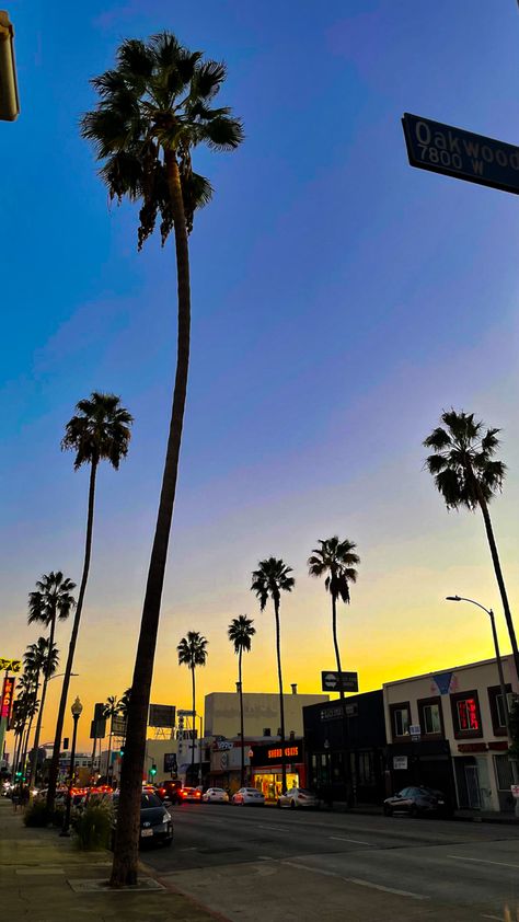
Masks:
[[[519,678],[516,631],[488,511],[488,504],[501,491],[506,474],[506,465],[494,458],[499,447],[499,429],[486,429],[481,419],[474,419],[473,413],[463,411],[443,411],[441,422],[443,426],[434,429],[424,441],[425,448],[431,448],[434,452],[426,458],[425,464],[448,509],[461,506],[471,512],[477,507],[481,509]]]

